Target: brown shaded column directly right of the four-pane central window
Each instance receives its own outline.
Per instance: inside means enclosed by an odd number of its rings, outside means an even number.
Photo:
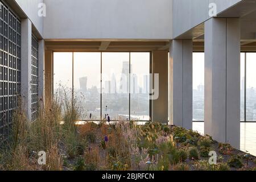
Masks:
[[[152,51],[152,73],[159,74],[159,85],[154,85],[157,99],[151,100],[151,120],[168,121],[168,51]],[[156,88],[158,86],[158,88]]]

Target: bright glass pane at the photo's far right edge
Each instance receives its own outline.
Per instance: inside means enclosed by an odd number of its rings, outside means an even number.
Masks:
[[[246,121],[256,121],[256,53],[246,53]]]

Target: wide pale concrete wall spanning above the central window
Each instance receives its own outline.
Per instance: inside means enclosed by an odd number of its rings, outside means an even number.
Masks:
[[[47,7],[47,16],[44,18],[45,39],[171,38],[171,0],[44,2]]]

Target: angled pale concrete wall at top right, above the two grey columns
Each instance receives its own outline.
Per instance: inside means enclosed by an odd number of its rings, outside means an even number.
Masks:
[[[209,3],[216,3],[217,13],[242,0],[173,0],[173,38],[210,18]]]

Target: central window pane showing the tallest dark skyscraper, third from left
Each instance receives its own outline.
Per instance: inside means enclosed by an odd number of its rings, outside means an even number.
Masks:
[[[129,119],[129,52],[102,52],[102,118]]]

